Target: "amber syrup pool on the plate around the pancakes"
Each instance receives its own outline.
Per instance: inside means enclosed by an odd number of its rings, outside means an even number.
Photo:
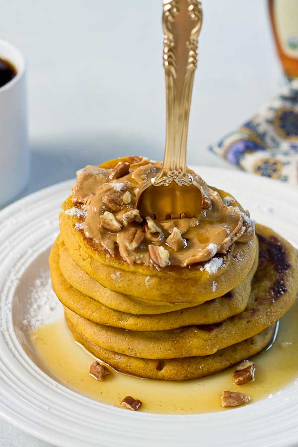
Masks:
[[[296,380],[297,320],[298,302],[280,320],[271,347],[253,358],[255,380],[244,385],[232,383],[235,367],[209,377],[182,382],[144,379],[111,371],[100,382],[89,375],[89,367],[96,358],[74,341],[64,319],[33,330],[30,338],[44,372],[85,396],[119,407],[122,399],[131,395],[143,401],[139,411],[197,414],[223,410],[219,399],[223,390],[242,392],[253,403],[271,397]]]

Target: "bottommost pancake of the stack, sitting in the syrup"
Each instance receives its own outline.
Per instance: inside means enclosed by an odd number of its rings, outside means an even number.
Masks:
[[[130,357],[101,348],[87,340],[76,329],[67,315],[66,321],[74,334],[74,338],[98,359],[123,373],[159,380],[189,380],[223,371],[242,360],[250,359],[266,348],[271,342],[275,331],[275,325],[272,325],[254,337],[229,346],[210,356],[148,360]]]

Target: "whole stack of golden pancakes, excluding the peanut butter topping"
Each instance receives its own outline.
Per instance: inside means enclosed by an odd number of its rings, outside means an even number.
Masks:
[[[73,209],[70,196],[50,255],[53,288],[75,339],[118,371],[163,380],[222,371],[268,346],[297,297],[297,253],[265,226],[220,255],[218,270],[155,268],[104,254],[83,232],[84,208]]]

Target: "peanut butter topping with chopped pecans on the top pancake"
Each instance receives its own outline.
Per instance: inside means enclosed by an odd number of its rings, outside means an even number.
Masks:
[[[236,241],[253,239],[255,225],[249,213],[231,196],[222,198],[193,171],[190,173],[203,194],[200,215],[163,222],[143,219],[135,209],[136,194],[158,174],[161,163],[141,157],[131,161],[120,162],[113,169],[86,166],[77,171],[73,203],[80,223],[76,228],[104,248],[107,256],[119,253],[130,265],[186,267],[226,253]]]

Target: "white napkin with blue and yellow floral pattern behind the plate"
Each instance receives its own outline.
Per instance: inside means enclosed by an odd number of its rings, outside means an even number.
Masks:
[[[245,171],[298,186],[298,79],[210,149]]]

